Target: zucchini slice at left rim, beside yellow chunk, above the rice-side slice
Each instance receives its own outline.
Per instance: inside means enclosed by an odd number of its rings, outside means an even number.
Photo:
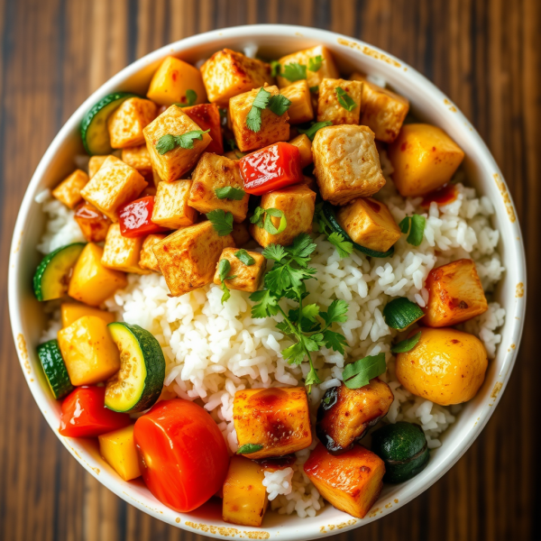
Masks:
[[[85,245],[61,246],[42,259],[33,278],[34,295],[38,300],[60,298],[68,292],[71,271]]]

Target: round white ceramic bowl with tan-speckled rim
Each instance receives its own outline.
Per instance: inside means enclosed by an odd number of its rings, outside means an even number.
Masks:
[[[431,453],[426,469],[417,477],[403,484],[386,485],[380,500],[365,518],[353,518],[326,505],[316,518],[268,513],[262,528],[234,527],[222,521],[221,507],[217,502],[209,502],[186,514],[161,505],[141,481],[122,481],[101,459],[95,442],[59,435],[60,403],[52,399],[35,353],[45,318],[40,303],[32,294],[32,274],[40,259],[35,246],[44,224],[44,216],[34,197],[42,189],[53,187],[73,170],[73,157],[82,151],[78,126],[87,109],[115,90],[144,94],[152,72],[166,55],[173,54],[183,60],[196,62],[224,47],[243,50],[246,46],[257,46],[263,56],[268,53],[266,56],[278,58],[316,44],[326,45],[333,51],[342,72],[347,74],[355,69],[384,78],[390,87],[408,97],[419,119],[443,128],[466,152],[465,167],[469,182],[481,194],[490,197],[496,209],[494,225],[500,230],[500,253],[506,267],[496,299],[506,308],[507,315],[501,330],[501,344],[496,359],[490,363],[486,380],[475,399],[468,402],[456,423],[445,432],[443,445]],[[9,308],[19,359],[41,412],[69,452],[109,490],[155,518],[188,531],[198,530],[198,533],[218,538],[243,536],[280,538],[282,541],[311,539],[338,528],[346,530],[359,527],[398,509],[444,475],[479,436],[499,402],[517,356],[526,304],[524,247],[515,216],[500,169],[472,124],[442,92],[401,60],[362,41],[300,26],[264,24],[199,34],[155,50],[108,80],[69,118],[45,152],[19,211],[10,257]]]

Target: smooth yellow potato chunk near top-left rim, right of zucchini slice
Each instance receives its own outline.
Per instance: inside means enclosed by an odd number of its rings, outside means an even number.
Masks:
[[[147,97],[159,105],[187,104],[187,90],[197,94],[197,104],[206,102],[203,78],[197,68],[184,60],[167,57],[154,73]]]

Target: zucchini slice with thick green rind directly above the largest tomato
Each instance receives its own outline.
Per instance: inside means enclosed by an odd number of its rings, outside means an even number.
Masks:
[[[115,322],[107,327],[120,350],[120,370],[107,381],[105,407],[122,412],[150,408],[160,398],[165,380],[158,340],[138,325]]]

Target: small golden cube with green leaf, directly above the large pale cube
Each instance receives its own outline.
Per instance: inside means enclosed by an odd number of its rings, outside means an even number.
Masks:
[[[342,92],[345,92],[355,102],[351,111],[340,104],[340,101],[343,101],[345,105],[349,105],[347,97],[340,96]],[[319,85],[319,98],[317,99],[317,122],[330,121],[335,125],[359,124],[361,105],[361,82],[323,79]]]

